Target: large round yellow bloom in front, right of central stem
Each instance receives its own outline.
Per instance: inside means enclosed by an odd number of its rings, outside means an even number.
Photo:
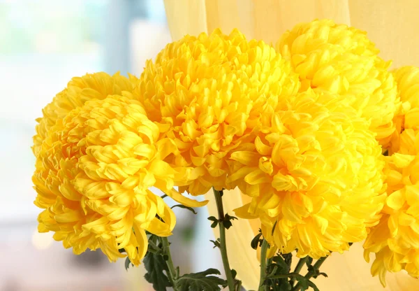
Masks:
[[[378,223],[383,207],[381,147],[360,118],[331,94],[312,90],[284,104],[231,164],[253,197],[236,210],[260,218],[281,253],[319,258],[348,250]]]

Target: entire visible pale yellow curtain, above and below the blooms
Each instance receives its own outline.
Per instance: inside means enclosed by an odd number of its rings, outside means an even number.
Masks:
[[[238,28],[247,38],[275,43],[284,31],[299,22],[330,18],[368,31],[381,49],[381,57],[392,59],[393,67],[419,66],[419,1],[417,0],[165,0],[166,15],[173,40],[185,34],[198,35],[220,27],[225,32]],[[212,200],[212,193],[207,199]],[[238,190],[223,196],[226,211],[242,205],[247,199]],[[216,213],[214,203],[209,206]],[[248,290],[258,285],[259,261],[249,246],[258,231],[256,221],[237,220],[228,230],[228,255],[231,267]],[[322,270],[329,278],[317,278],[322,291],[411,291],[419,290],[419,281],[407,274],[388,274],[387,288],[372,278],[370,264],[362,257],[362,246],[353,246],[344,255],[332,254]]]

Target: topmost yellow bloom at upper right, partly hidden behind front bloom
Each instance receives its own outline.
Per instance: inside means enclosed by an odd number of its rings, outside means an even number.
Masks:
[[[358,114],[371,120],[370,128],[381,144],[394,132],[392,119],[399,101],[395,81],[387,71],[390,62],[378,57],[378,49],[364,31],[332,20],[315,20],[287,31],[277,49],[291,60],[301,91],[311,87],[344,97]]]

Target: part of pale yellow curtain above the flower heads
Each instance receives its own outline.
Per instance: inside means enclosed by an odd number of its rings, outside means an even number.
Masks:
[[[165,0],[173,40],[217,27],[276,43],[299,22],[330,18],[368,31],[393,67],[419,66],[418,0]]]

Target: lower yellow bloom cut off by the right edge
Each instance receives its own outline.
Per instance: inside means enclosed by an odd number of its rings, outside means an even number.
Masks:
[[[406,270],[419,277],[419,135],[406,129],[400,152],[386,158],[388,197],[380,223],[365,241],[365,260],[375,253],[372,275],[385,286],[385,274]]]

